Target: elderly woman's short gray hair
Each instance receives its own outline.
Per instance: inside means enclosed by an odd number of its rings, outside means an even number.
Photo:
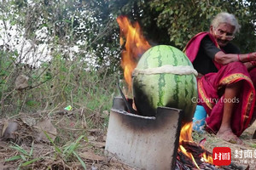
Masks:
[[[228,23],[231,26],[235,26],[234,33],[240,31],[241,26],[238,24],[238,21],[236,20],[236,17],[234,14],[229,14],[225,12],[217,14],[212,20],[212,26],[214,28],[217,28],[218,25],[221,23]]]

